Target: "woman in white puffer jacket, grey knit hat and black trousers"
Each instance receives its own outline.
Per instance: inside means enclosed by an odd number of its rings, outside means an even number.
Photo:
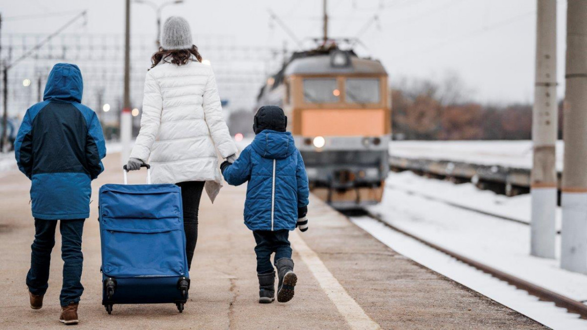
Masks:
[[[222,116],[214,72],[201,63],[185,19],[172,16],[163,25],[161,48],[151,58],[144,88],[141,129],[127,169],[151,165],[153,183],[181,187],[188,265],[198,238],[198,209],[205,187],[220,191],[218,153],[234,161],[237,146]]]

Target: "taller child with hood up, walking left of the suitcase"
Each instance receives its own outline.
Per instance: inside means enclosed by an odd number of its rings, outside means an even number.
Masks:
[[[26,110],[16,136],[18,168],[31,179],[35,240],[26,275],[32,309],[43,307],[51,251],[59,221],[63,284],[59,301],[64,324],[77,324],[83,292],[82,233],[90,216],[91,182],[102,173],[106,146],[96,113],[82,105],[83,80],[77,65],[53,66],[43,102]]]

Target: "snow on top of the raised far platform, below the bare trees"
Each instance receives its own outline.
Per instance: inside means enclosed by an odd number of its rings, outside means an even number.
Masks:
[[[556,143],[556,168],[562,171],[564,143]],[[482,165],[532,167],[532,142],[516,141],[392,141],[392,156],[414,159],[454,160]]]

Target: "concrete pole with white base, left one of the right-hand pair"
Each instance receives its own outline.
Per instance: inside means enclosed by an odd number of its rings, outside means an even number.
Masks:
[[[556,0],[537,0],[536,71],[532,110],[532,218],[530,254],[555,258],[556,218]]]

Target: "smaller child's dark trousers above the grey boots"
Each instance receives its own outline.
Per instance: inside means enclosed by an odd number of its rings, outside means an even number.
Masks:
[[[257,254],[257,274],[266,274],[274,271],[271,264],[271,254],[275,252],[274,261],[292,257],[292,248],[289,247],[289,230],[254,230],[255,253]]]

